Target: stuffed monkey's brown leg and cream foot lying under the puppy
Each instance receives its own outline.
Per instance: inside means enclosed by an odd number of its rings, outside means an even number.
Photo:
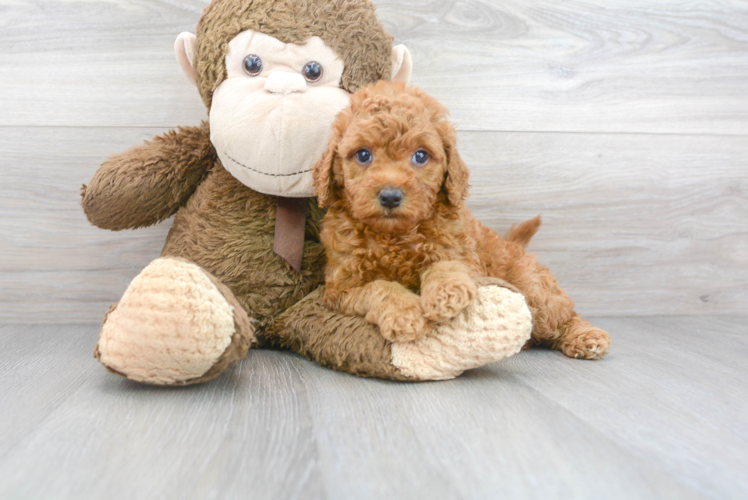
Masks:
[[[477,296],[461,313],[411,342],[390,342],[360,316],[327,308],[320,288],[284,312],[274,335],[327,367],[364,377],[445,380],[519,352],[532,316],[524,297],[501,280],[480,278]]]

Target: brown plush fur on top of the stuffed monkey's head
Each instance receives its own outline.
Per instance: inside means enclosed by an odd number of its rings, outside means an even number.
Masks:
[[[345,62],[341,88],[355,92],[392,73],[392,41],[368,0],[214,0],[197,26],[195,77],[210,109],[226,78],[228,42],[246,30],[284,43],[322,38]],[[351,43],[355,40],[355,43]]]

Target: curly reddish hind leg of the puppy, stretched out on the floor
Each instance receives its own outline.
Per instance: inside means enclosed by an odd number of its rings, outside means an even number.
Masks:
[[[525,294],[533,309],[533,342],[559,350],[570,358],[605,356],[610,347],[608,333],[574,312],[574,302],[534,255],[522,249],[515,257],[507,266],[506,280]]]

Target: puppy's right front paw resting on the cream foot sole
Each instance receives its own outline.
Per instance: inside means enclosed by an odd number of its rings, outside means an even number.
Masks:
[[[475,299],[475,282],[464,274],[453,274],[445,280],[427,281],[421,287],[421,307],[426,318],[444,322],[454,318]]]

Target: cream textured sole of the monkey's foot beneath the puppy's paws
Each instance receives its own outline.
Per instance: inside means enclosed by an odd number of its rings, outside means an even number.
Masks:
[[[446,380],[518,353],[530,339],[532,314],[524,296],[501,280],[476,280],[473,302],[430,334],[392,344],[392,365],[417,380]]]

